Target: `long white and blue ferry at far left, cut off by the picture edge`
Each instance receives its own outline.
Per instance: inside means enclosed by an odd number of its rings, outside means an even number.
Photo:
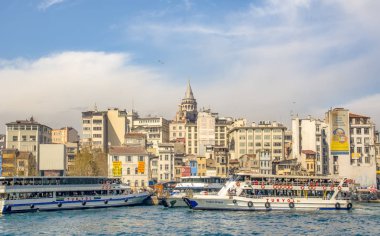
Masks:
[[[139,205],[149,196],[118,178],[0,177],[0,214]]]

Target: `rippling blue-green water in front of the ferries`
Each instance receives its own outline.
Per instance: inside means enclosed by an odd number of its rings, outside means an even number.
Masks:
[[[0,216],[1,235],[379,235],[380,204],[347,211],[192,211],[162,206]]]

